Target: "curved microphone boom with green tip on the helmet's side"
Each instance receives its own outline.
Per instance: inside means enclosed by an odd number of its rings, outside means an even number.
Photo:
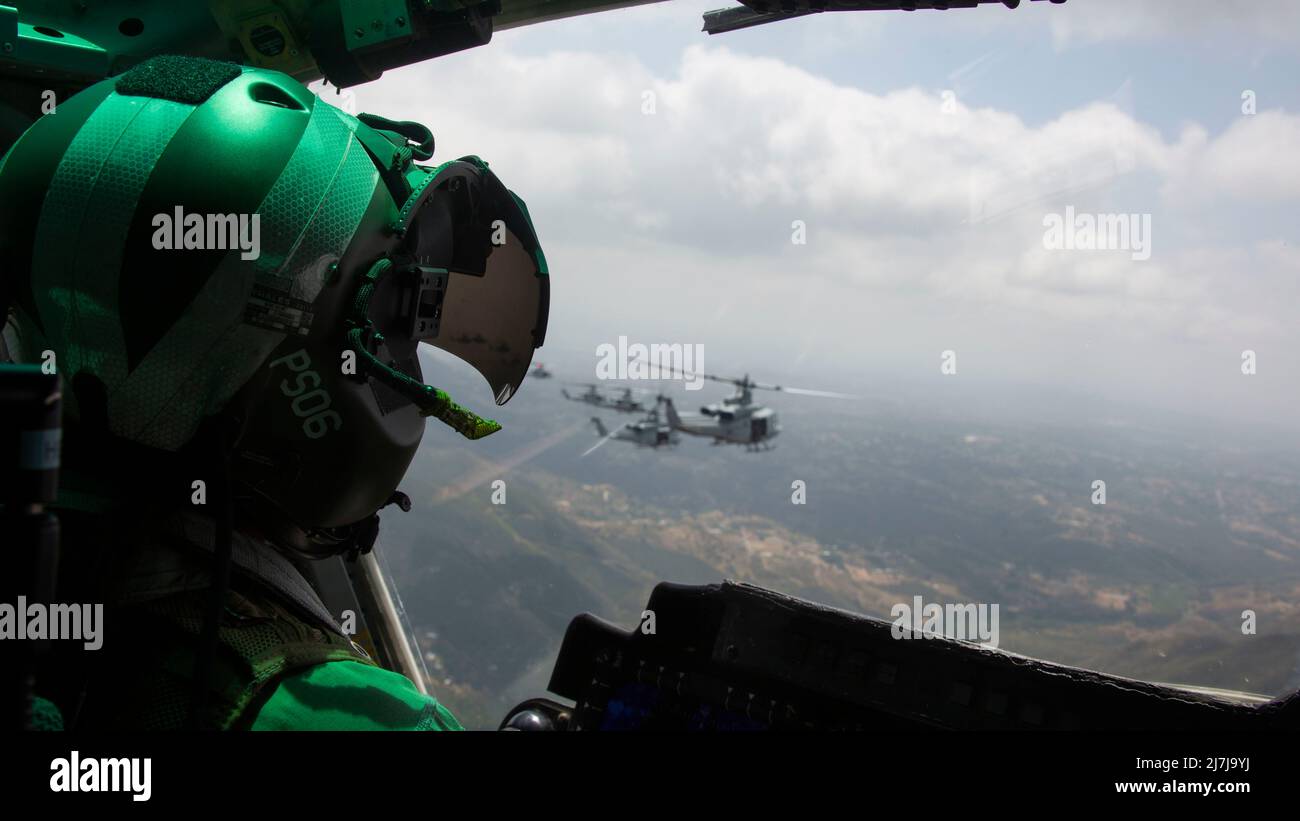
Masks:
[[[482,439],[486,435],[497,433],[500,430],[498,422],[484,418],[473,410],[456,404],[446,391],[432,385],[425,385],[419,379],[412,379],[400,370],[385,365],[370,352],[372,344],[377,346],[384,342],[384,335],[374,330],[374,323],[368,316],[370,296],[374,294],[374,286],[391,268],[393,260],[387,257],[377,260],[370,266],[370,270],[365,273],[360,287],[356,290],[356,299],[352,301],[352,317],[348,320],[347,342],[356,352],[358,373],[378,379],[415,403],[420,408],[420,416],[432,416],[467,439]]]

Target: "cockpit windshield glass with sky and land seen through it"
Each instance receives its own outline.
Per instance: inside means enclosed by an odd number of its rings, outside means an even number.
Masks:
[[[1300,685],[1300,3],[701,34],[716,5],[499,31],[348,92],[490,161],[552,274],[555,378],[484,442],[432,427],[384,520],[439,698],[495,726],[578,612],[630,629],[656,582],[723,578]],[[593,416],[644,412],[562,394],[585,382],[705,434],[592,449]]]

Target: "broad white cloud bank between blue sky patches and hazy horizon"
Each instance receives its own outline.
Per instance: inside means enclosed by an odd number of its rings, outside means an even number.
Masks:
[[[792,356],[902,355],[945,335],[996,349],[1036,329],[1066,351],[1100,335],[1183,357],[1161,378],[1188,385],[1205,349],[1300,349],[1295,234],[1252,235],[1249,210],[1300,200],[1295,114],[1166,138],[1106,100],[1028,123],[714,44],[656,75],[625,55],[497,43],[356,94],[363,110],[429,125],[439,158],[484,156],[529,203],[555,270],[552,339],[608,318],[759,349],[786,340],[772,329],[797,307],[814,327]],[[1065,205],[1150,213],[1152,259],[1045,251],[1044,213]],[[807,246],[790,243],[793,220]],[[1053,356],[1031,348],[1020,366],[1050,372]],[[1123,369],[1097,378],[1150,378]]]

